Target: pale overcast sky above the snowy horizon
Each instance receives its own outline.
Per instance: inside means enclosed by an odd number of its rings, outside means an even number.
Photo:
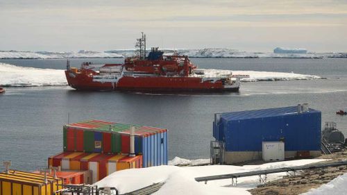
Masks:
[[[347,0],[0,0],[0,50],[347,51]]]

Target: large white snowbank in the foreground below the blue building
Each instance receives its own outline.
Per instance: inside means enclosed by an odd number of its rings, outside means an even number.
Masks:
[[[175,158],[176,159],[176,158]],[[178,158],[173,161],[180,161]],[[204,161],[204,160],[197,160]],[[247,171],[259,171],[264,169],[276,169],[281,167],[300,166],[322,160],[291,160],[284,162],[270,162],[261,165],[210,165],[195,167],[176,167],[172,165],[149,167],[144,169],[126,169],[117,171],[110,176],[95,183],[98,187],[116,187],[121,194],[140,189],[153,183],[164,183],[162,188],[155,194],[250,194],[248,189],[259,185],[258,176],[249,176],[237,179],[237,187],[231,186],[231,179],[212,180],[206,185],[198,183],[194,178],[214,176],[227,173],[240,173]],[[267,176],[267,180],[276,180],[285,176],[286,173],[273,173]]]

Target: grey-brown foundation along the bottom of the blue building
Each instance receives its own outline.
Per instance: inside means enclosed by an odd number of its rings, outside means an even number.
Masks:
[[[321,155],[321,151],[309,151],[312,158]],[[297,158],[298,151],[285,151],[285,158]],[[239,162],[246,162],[251,160],[262,160],[262,151],[226,151],[224,153],[225,164],[235,164]]]

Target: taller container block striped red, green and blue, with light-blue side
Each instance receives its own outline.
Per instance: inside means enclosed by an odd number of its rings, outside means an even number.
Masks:
[[[128,154],[132,126],[135,127],[135,154],[143,156],[143,167],[167,164],[167,129],[151,126],[98,120],[67,124],[63,128],[64,151]]]

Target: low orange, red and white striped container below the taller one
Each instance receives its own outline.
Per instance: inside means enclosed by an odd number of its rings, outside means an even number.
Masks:
[[[142,155],[129,157],[128,155],[80,152],[64,152],[49,158],[49,167],[57,167],[60,166],[59,164],[62,169],[66,170],[92,171],[92,183],[96,183],[115,171],[143,167]]]

